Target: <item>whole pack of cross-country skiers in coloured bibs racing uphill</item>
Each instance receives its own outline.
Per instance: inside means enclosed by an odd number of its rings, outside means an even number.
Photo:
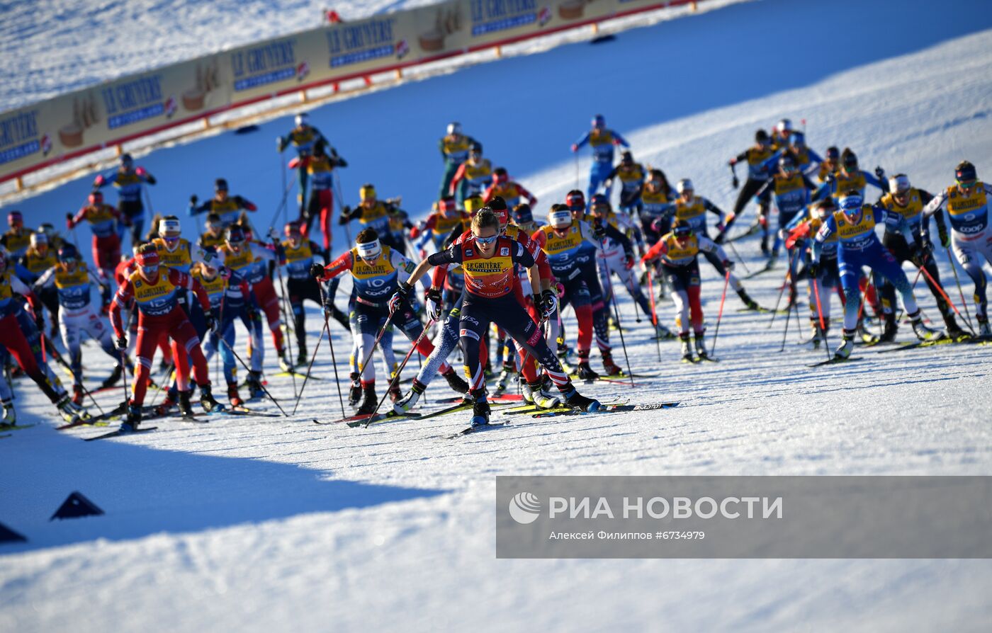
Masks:
[[[713,360],[705,344],[699,258],[724,278],[724,295],[732,287],[744,309],[767,311],[749,296],[724,250],[755,233],[761,234],[768,258],[759,272],[772,269],[785,251],[786,310],[795,306],[798,283],[806,279],[816,347],[829,330],[830,296],[836,289],[844,309],[835,362],[849,358],[859,334],[864,343],[894,340],[897,293],[921,340],[992,335],[982,270],[984,262],[992,262],[987,201],[992,189],[967,161],[957,165],[955,182],[933,195],[913,187],[906,174],[887,177],[881,167],[873,173],[862,170],[849,149],[831,147],[820,157],[806,147],[804,133],[783,119],[771,133],[759,130],[755,145],[729,160],[731,170],[743,162],[748,173],[733,210],[724,213],[699,195],[690,179],[672,186],[664,171],[635,161],[628,142],[596,115],[591,129],[571,146],[573,153],[586,145],[592,151],[586,191],[575,188],[549,205],[547,222],[542,222],[535,211],[537,198],[506,168],[493,167],[483,158],[481,143],[451,123],[438,143],[444,166],[437,200],[432,212],[415,223],[400,198],[380,199],[371,183],[359,188],[356,206],[343,205],[336,170],[347,162],[310,126],[306,114],[295,123],[277,140],[277,149],[283,153],[292,147],[297,153],[287,167],[298,178],[284,184],[283,197],[285,203],[299,185],[299,216],[281,232],[258,232],[249,219],[257,206],[231,195],[226,180],[217,178],[211,198],[202,203],[196,195],[189,198],[187,214],[205,214],[198,239],[186,239],[173,215],[157,217],[144,234],[142,194],[156,179],[128,155],[116,169],[98,175],[86,203],[66,215],[72,242],[51,225],[30,230],[19,212],[8,214],[9,229],[0,238],[0,318],[6,326],[0,329],[0,356],[13,358],[66,423],[91,419],[85,398],[92,399],[92,393],[83,385],[81,362],[84,336],[114,361],[100,389],[132,372],[121,430],[133,431],[144,417],[167,414],[173,407],[194,415],[192,382],[205,411],[222,409],[207,370],[214,354],[223,365],[228,406],[244,405],[239,366],[246,372],[249,399],[267,395],[265,326],[281,371],[309,377],[308,300],[322,309],[324,327],[333,320],[351,333],[348,400],[357,416],[371,416],[382,404],[373,361],[377,349],[394,415],[410,413],[437,373],[471,408],[473,427],[489,424],[490,398],[514,379],[523,399],[535,407],[563,404],[594,411],[599,403],[578,393],[573,379],[618,378],[630,371],[617,364],[610,341],[611,328],[620,328],[616,285],[651,321],[656,338],[680,339],[683,362]],[[615,162],[617,148],[624,150]],[[616,210],[614,183],[620,189]],[[118,191],[117,207],[104,202],[101,189],[107,185]],[[736,172],[733,185],[739,185]],[[874,203],[867,198],[868,185],[882,194]],[[335,197],[337,223],[349,236],[357,224],[352,248],[336,258],[330,252]],[[758,206],[754,223],[731,235],[752,200]],[[940,284],[930,217],[939,246],[948,255],[952,250],[974,283],[977,326],[971,332],[958,323],[957,306]],[[310,239],[314,221],[322,244]],[[83,223],[92,233],[92,270],[74,244],[73,229]],[[881,239],[879,224],[884,225]],[[132,253],[122,257],[127,239]],[[902,269],[906,261],[926,275],[943,332],[925,324],[914,283]],[[344,273],[352,281],[346,310],[335,305]],[[415,290],[418,283],[423,301]],[[93,288],[99,291],[99,306],[92,302]],[[656,303],[666,293],[674,302],[674,330],[663,325]],[[878,336],[865,327],[866,304],[881,323]],[[566,306],[574,332],[562,319]],[[248,335],[247,362],[235,351],[237,322]],[[400,364],[393,352],[394,328],[412,345]],[[57,330],[62,351],[52,341]],[[290,334],[295,343],[287,340]],[[593,342],[601,371],[590,365]],[[170,369],[161,386],[153,371],[159,350],[160,369]],[[452,367],[456,350],[461,375]],[[414,353],[426,361],[404,393],[399,373]],[[50,357],[71,376],[71,393],[49,368]],[[491,391],[490,376],[495,380]],[[16,423],[9,380],[9,375],[0,380],[2,424],[8,426]],[[145,406],[149,388],[166,392],[156,407]]]

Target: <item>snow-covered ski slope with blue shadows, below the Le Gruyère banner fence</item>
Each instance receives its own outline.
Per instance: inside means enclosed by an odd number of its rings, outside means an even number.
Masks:
[[[415,213],[434,195],[434,144],[448,120],[482,140],[543,210],[574,185],[567,146],[597,111],[636,158],[673,180],[691,177],[724,208],[734,194],[726,158],[781,116],[805,118],[818,151],[849,145],[864,168],[905,170],[936,191],[960,158],[980,176],[992,170],[992,15],[980,6],[738,4],[336,103],[312,118],[351,163],[341,176],[350,200],[371,180]],[[830,15],[843,16],[842,38]],[[287,125],[144,158],[163,183],[152,191],[156,209],[182,211],[190,192],[202,196],[223,175],[260,203],[264,226],[280,195],[271,139]],[[586,168],[583,159],[583,187]],[[61,221],[87,189],[88,178],[20,206],[29,224]],[[184,226],[192,233],[191,221]],[[755,240],[736,246],[746,264],[761,263]],[[712,333],[720,279],[702,268]],[[770,306],[780,282],[774,271],[745,284]],[[923,284],[917,296],[938,320]],[[340,413],[325,353],[314,366],[325,379],[308,385],[293,420],[165,421],[93,444],[78,438],[95,430],[54,431],[51,406],[19,383],[20,419],[38,426],[0,440],[0,523],[30,541],[0,546],[0,629],[986,630],[987,561],[494,558],[494,475],[989,474],[988,347],[856,349],[860,363],[806,369],[825,356],[799,345],[805,302],[785,354],[784,319],[769,329],[770,315],[740,307],[728,296],[721,363],[682,366],[675,343],[662,344],[659,361],[648,323],[635,323],[621,297],[631,365],[662,374],[635,389],[581,389],[604,400],[681,400],[677,409],[516,417],[456,442],[439,436],[464,426],[464,414],[369,430],[313,425]],[[660,309],[671,322],[671,303]],[[317,318],[310,313],[314,332]],[[333,324],[331,333],[343,371],[349,338]],[[900,339],[911,337],[904,326]],[[271,354],[267,363],[275,370]],[[109,370],[95,348],[86,366],[94,378]],[[425,409],[449,395],[437,382]],[[269,387],[292,398],[287,378]],[[117,399],[100,396],[104,406]],[[106,515],[50,523],[74,489]]]

